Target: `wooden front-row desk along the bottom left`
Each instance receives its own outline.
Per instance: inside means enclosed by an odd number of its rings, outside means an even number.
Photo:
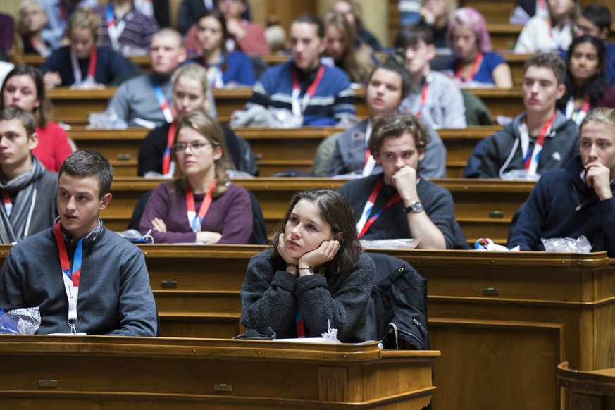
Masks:
[[[440,352],[146,337],[3,336],[6,409],[416,409]]]

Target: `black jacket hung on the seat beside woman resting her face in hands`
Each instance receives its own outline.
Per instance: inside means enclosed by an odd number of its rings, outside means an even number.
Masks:
[[[406,261],[368,253],[376,266],[368,307],[372,340],[385,349],[429,350],[427,281]]]

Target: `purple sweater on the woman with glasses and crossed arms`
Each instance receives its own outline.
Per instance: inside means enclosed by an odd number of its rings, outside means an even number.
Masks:
[[[182,186],[181,189],[178,186]],[[185,182],[164,182],[156,187],[143,211],[139,231],[147,232],[154,218],[166,223],[167,232],[151,231],[155,243],[196,242],[186,213]],[[194,194],[194,207],[198,209],[205,194]],[[247,244],[252,232],[252,209],[250,197],[242,187],[230,183],[228,190],[213,198],[203,223],[202,231],[220,232],[218,244]]]

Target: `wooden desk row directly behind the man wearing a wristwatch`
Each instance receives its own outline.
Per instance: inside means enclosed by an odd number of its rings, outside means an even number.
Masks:
[[[162,180],[116,178],[111,187],[113,200],[101,213],[111,230],[125,230],[137,201]],[[253,178],[236,179],[237,185],[250,190],[259,199],[268,232],[282,219],[288,201],[295,192],[326,187],[337,190],[347,180],[332,178]],[[501,180],[433,180],[447,188],[455,202],[455,217],[468,241],[490,237],[505,243],[514,212],[528,197],[534,182]],[[493,211],[498,211],[494,213]]]

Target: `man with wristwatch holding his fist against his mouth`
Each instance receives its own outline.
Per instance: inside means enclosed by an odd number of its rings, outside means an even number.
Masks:
[[[340,188],[352,204],[359,237],[418,239],[420,249],[467,249],[452,195],[418,175],[429,134],[410,114],[376,118],[369,149],[383,172]]]

